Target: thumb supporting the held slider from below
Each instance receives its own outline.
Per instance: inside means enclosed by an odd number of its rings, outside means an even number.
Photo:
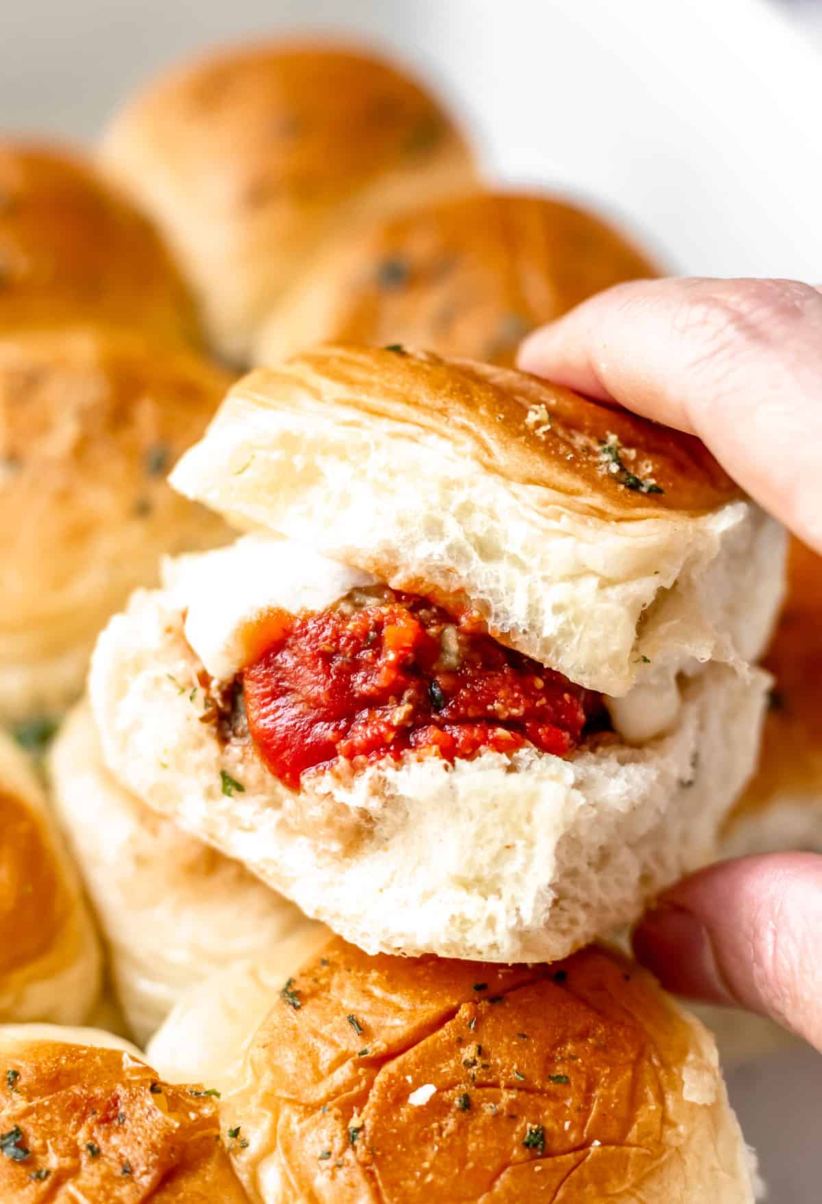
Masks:
[[[638,961],[676,995],[771,1016],[822,1050],[822,856],[710,866],[638,925]]]

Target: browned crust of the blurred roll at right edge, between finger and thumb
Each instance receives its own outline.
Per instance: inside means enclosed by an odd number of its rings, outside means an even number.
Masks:
[[[791,541],[788,595],[763,660],[775,677],[757,774],[733,820],[777,796],[822,797],[822,557]]]

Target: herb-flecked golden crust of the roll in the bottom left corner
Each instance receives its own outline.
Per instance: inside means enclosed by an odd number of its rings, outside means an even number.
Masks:
[[[118,1050],[12,1040],[0,1056],[4,1202],[246,1204],[199,1088]]]

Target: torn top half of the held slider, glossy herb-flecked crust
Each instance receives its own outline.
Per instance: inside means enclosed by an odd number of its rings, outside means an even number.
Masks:
[[[672,657],[758,655],[781,592],[781,533],[698,439],[401,346],[250,373],[171,483],[615,697]]]

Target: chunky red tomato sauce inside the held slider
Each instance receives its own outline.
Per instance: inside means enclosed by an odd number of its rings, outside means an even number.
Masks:
[[[338,757],[453,762],[528,742],[567,756],[602,710],[599,695],[413,594],[282,615],[273,631],[244,671],[246,713],[266,766],[295,789]]]

